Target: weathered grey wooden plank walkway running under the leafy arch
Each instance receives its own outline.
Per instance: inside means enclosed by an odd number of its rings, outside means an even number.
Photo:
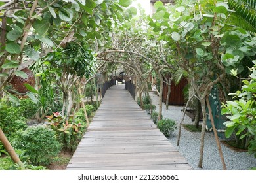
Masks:
[[[108,89],[67,170],[191,169],[123,85]]]

